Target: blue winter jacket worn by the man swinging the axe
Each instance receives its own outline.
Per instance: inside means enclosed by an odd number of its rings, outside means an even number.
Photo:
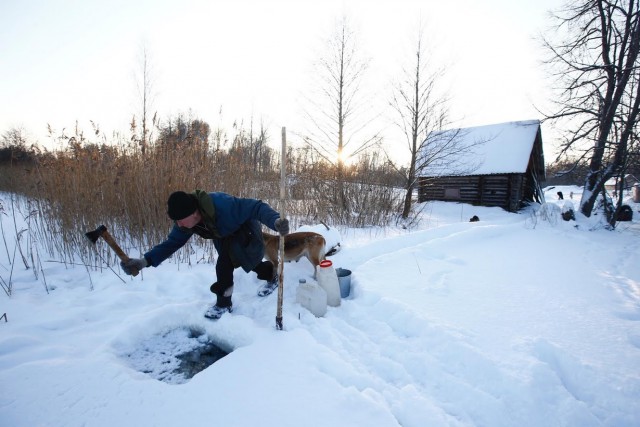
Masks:
[[[209,210],[202,206],[208,202],[207,195],[198,190],[194,193],[196,194],[200,197],[198,209],[204,217]],[[264,241],[260,223],[277,231],[275,221],[280,218],[280,214],[261,200],[244,199],[221,192],[208,193],[208,196],[211,197],[215,214],[214,218],[207,216],[205,223],[208,219],[210,224],[215,224],[215,230],[200,226],[181,228],[174,223],[166,240],[144,254],[150,265],[160,265],[183,247],[193,234],[213,239],[218,253],[229,252],[234,267],[242,267],[249,272],[262,261]]]

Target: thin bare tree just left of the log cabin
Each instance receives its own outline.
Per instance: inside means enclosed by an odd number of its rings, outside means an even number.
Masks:
[[[412,196],[416,186],[417,176],[427,168],[434,153],[429,155],[426,145],[436,151],[449,151],[447,147],[455,144],[434,144],[433,138],[428,138],[432,131],[441,131],[449,124],[449,98],[441,91],[439,83],[445,69],[434,67],[427,53],[424,42],[424,28],[419,27],[415,42],[413,60],[408,68],[404,68],[400,80],[394,85],[391,107],[397,113],[396,124],[406,137],[409,151],[409,168],[402,170],[404,188],[406,190],[402,209],[402,218],[407,218],[411,212]],[[441,138],[438,141],[442,141]]]

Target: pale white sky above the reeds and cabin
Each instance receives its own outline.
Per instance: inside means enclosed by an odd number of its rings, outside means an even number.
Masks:
[[[299,101],[343,14],[370,58],[369,87],[381,104],[402,58],[413,53],[409,40],[422,17],[431,48],[451,64],[452,116],[461,126],[540,119],[534,103],[543,105],[549,94],[534,36],[561,4],[0,0],[0,132],[24,127],[44,144],[47,123],[60,130],[77,120],[89,130],[93,120],[107,133],[127,133],[140,109],[133,76],[146,45],[152,107],[161,118],[191,110],[216,127],[221,120],[246,123],[253,114],[278,146],[283,126],[304,132]],[[545,149],[546,134],[543,126]],[[394,138],[389,132],[387,143]]]

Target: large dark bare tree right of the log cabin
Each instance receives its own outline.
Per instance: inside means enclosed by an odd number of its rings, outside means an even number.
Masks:
[[[604,183],[624,174],[638,139],[639,7],[640,0],[576,0],[553,15],[560,40],[543,38],[558,88],[547,118],[565,129],[560,155],[578,151],[578,161],[589,162],[580,201],[586,216],[606,196]],[[615,226],[617,210],[605,211]]]

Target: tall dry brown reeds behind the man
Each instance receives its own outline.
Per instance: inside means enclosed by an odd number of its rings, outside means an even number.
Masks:
[[[166,237],[172,226],[166,200],[176,190],[223,191],[259,198],[281,210],[280,156],[263,137],[256,141],[240,131],[225,147],[220,141],[210,146],[208,137],[180,140],[161,135],[144,152],[135,140],[115,135],[107,141],[97,132],[94,137],[60,135],[56,138],[61,148],[54,152],[0,163],[0,190],[25,196],[28,202],[28,208],[18,212],[28,222],[27,239],[17,247],[36,247],[32,242],[39,242],[60,262],[116,265],[113,252],[106,245],[95,251],[85,232],[104,224],[123,250],[137,257]],[[368,159],[349,170],[344,187],[349,206],[338,209],[333,168],[309,150],[290,150],[286,215],[292,227],[320,221],[336,227],[388,224],[401,201],[384,182],[388,174],[376,168]],[[174,260],[190,262],[193,248],[207,245],[211,243],[193,239]],[[211,261],[213,250],[205,253],[210,255],[202,261]],[[40,254],[32,251],[24,258],[38,271]]]

